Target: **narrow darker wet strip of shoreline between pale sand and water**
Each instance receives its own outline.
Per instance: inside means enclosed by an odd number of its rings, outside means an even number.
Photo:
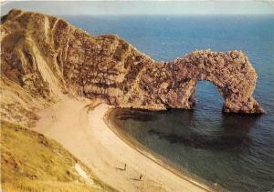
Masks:
[[[175,167],[170,166],[167,162],[163,162],[163,159],[159,158],[159,157],[155,157],[152,152],[150,152],[149,150],[147,150],[144,146],[142,145],[138,145],[138,141],[132,142],[130,141],[128,138],[126,138],[126,136],[124,136],[119,130],[118,128],[116,128],[115,125],[113,125],[111,123],[111,112],[114,110],[115,108],[111,108],[109,109],[104,118],[104,122],[105,124],[111,129],[111,131],[118,136],[124,143],[126,143],[128,146],[132,147],[134,150],[138,151],[140,154],[142,154],[142,156],[147,157],[149,159],[151,159],[154,163],[158,164],[159,166],[167,169],[168,171],[172,172],[174,175],[183,178],[184,180],[194,184],[196,187],[201,187],[203,188],[205,191],[226,191],[225,189],[221,189],[220,187],[209,187],[209,186],[205,186],[205,184],[199,183],[198,181],[195,181],[193,178],[191,177],[187,177],[184,175],[184,173],[178,169],[176,169]],[[164,160],[165,161],[165,160]]]

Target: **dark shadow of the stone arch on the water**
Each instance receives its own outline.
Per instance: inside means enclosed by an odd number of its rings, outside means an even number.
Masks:
[[[185,147],[203,148],[210,150],[231,150],[248,148],[252,139],[248,136],[249,130],[255,125],[259,116],[242,116],[242,115],[222,115],[221,130],[215,134],[200,133],[196,130],[193,111],[184,111],[180,113],[184,122],[184,133],[166,133],[161,129],[152,128],[149,134],[159,136],[171,144],[184,145]],[[202,128],[202,127],[199,127]]]

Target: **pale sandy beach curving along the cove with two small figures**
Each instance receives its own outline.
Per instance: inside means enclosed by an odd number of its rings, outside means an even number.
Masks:
[[[66,98],[39,114],[36,131],[57,140],[95,176],[119,191],[211,190],[180,177],[124,142],[104,121],[110,109],[99,101],[90,104]]]

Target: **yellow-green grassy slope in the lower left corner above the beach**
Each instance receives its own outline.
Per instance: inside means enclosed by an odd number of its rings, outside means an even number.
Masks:
[[[1,174],[4,191],[111,191],[56,141],[5,121],[1,122]]]

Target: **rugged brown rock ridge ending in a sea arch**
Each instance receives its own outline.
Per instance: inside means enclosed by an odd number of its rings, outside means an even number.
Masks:
[[[197,81],[218,87],[224,111],[263,113],[257,74],[241,51],[195,51],[163,63],[117,35],[92,36],[56,17],[12,10],[1,25],[2,78],[44,99],[102,98],[113,106],[190,109]]]

